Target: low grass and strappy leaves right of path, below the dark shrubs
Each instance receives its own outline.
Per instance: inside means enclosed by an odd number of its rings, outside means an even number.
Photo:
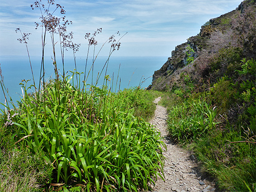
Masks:
[[[227,80],[223,78],[221,81]],[[244,113],[245,115],[250,111],[250,114],[247,114],[247,119],[251,119],[250,123],[245,123],[246,116],[243,116],[242,122],[237,124],[235,129],[231,122],[225,125],[218,122],[219,117],[223,117],[221,110],[217,111],[221,106],[211,109],[205,102],[210,94],[192,94],[178,102],[173,102],[167,96],[168,101],[172,103],[168,117],[169,135],[175,141],[192,146],[191,149],[203,162],[204,171],[217,179],[218,187],[221,189],[254,191],[256,103],[252,103]],[[200,95],[204,95],[203,100]],[[179,98],[175,94],[171,96],[175,97],[173,100]],[[215,104],[214,101],[212,103]]]

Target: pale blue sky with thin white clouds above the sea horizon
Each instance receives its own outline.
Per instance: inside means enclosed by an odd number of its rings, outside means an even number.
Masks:
[[[35,29],[35,22],[40,22],[41,14],[39,9],[31,9],[33,2],[0,0],[0,57],[28,54],[25,45],[17,41],[21,35],[15,33],[16,28],[20,28],[23,33],[31,33],[27,44],[30,56],[41,55],[42,30]],[[112,34],[119,31],[121,36],[127,34],[120,40],[120,50],[114,52],[114,56],[166,57],[171,56],[175,46],[197,35],[201,26],[209,19],[236,9],[241,2],[242,0],[55,0],[56,4],[64,6],[66,19],[73,22],[68,25],[67,31],[74,33],[74,43],[81,44],[77,56],[86,56],[88,41],[85,40],[85,33],[94,33],[97,28],[102,28],[102,33],[96,36],[96,52]],[[42,0],[42,3],[47,5],[46,0]],[[50,10],[54,6],[51,5]],[[49,37],[47,33],[46,55],[52,55]],[[107,56],[109,49],[110,45],[104,45],[100,55]],[[72,52],[65,54],[71,56]]]

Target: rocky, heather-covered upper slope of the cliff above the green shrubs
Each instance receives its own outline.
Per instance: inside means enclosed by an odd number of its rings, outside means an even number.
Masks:
[[[244,57],[255,59],[255,7],[255,0],[245,0],[237,9],[206,22],[198,35],[175,47],[161,69],[154,72],[147,89],[170,90],[174,84],[182,84],[180,74],[184,73],[194,80],[198,75],[209,76],[210,60],[226,48],[241,48]]]

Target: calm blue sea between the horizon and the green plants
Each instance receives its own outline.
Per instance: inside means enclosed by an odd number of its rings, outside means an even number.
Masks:
[[[107,57],[98,57],[94,64],[94,72],[93,78],[91,78],[91,73],[88,75],[88,80],[86,84],[91,84],[91,79],[93,79],[93,84],[95,84],[95,79],[100,72],[107,60]],[[114,75],[114,82],[113,82],[113,91],[116,89],[119,90],[119,83],[120,83],[120,90],[125,88],[131,88],[138,86],[140,82],[145,81],[141,84],[142,88],[146,88],[148,85],[152,83],[152,75],[154,74],[155,70],[159,70],[161,66],[166,62],[167,56],[152,56],[152,57],[121,57],[121,56],[113,56],[109,59],[108,69],[106,75],[109,75],[111,78],[111,82],[109,86],[112,86],[112,80]],[[85,71],[85,61],[86,58],[84,57],[76,57],[76,67],[78,72]],[[40,67],[41,67],[41,59],[40,57],[32,57],[31,58],[33,74],[36,84],[39,83],[39,76],[40,76]],[[90,70],[92,64],[92,58],[88,58],[86,74]],[[120,65],[120,70],[119,70]],[[30,80],[28,81],[28,85],[33,84],[32,81],[32,73],[29,64],[29,60],[27,56],[0,56],[0,67],[1,67],[1,74],[4,78],[4,84],[6,89],[8,89],[8,94],[14,103],[20,100],[22,97],[22,90],[21,90],[21,81],[22,80]],[[59,70],[60,75],[63,74],[63,67],[62,67],[62,60],[57,58],[57,68]],[[68,57],[64,60],[64,69],[65,74],[71,75],[70,70],[73,71],[75,69],[74,58]],[[84,78],[84,74],[81,75],[81,80]],[[101,75],[100,83],[104,79],[105,69]],[[87,76],[87,75],[86,75]],[[54,68],[52,65],[51,57],[45,58],[45,77],[46,79],[54,78]],[[118,85],[116,88],[116,82],[118,78]],[[25,82],[23,82],[25,83]],[[101,85],[98,84],[98,85]],[[32,88],[33,89],[33,88]],[[31,89],[31,92],[33,91]],[[6,94],[6,91],[5,91]],[[10,99],[9,97],[7,99]],[[5,97],[3,91],[0,87],[0,103],[5,103]],[[0,104],[0,109],[4,109],[4,106]]]

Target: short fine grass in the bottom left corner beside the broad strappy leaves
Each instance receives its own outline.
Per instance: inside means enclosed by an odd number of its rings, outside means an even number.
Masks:
[[[16,121],[17,115],[0,117],[0,191],[39,192],[49,180],[51,166],[42,159],[40,151],[31,153],[17,148],[15,140],[20,129],[9,119]]]

